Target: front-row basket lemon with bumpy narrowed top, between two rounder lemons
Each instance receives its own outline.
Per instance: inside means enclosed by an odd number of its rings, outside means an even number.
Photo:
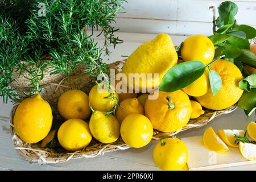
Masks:
[[[101,143],[115,142],[120,136],[120,124],[114,115],[93,111],[89,122],[90,132]]]

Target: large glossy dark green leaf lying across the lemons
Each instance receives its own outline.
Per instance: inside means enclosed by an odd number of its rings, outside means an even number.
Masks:
[[[159,90],[174,92],[192,84],[203,75],[205,65],[201,61],[186,61],[168,70],[160,82]]]

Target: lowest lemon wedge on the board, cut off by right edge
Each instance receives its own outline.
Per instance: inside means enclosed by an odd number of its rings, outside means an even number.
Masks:
[[[256,144],[239,142],[238,146],[244,158],[256,160]]]

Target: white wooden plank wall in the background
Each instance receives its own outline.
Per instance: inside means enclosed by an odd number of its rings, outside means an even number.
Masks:
[[[209,6],[216,8],[218,0],[127,0],[124,9],[115,18],[115,27],[122,32],[171,35],[212,34],[212,14]],[[256,28],[256,1],[233,1],[238,5],[239,24]]]

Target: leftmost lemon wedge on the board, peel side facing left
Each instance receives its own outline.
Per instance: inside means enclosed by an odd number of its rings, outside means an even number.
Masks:
[[[228,146],[218,137],[212,127],[209,127],[204,132],[203,136],[204,146],[208,148],[208,150],[215,152],[226,152],[229,150]]]

